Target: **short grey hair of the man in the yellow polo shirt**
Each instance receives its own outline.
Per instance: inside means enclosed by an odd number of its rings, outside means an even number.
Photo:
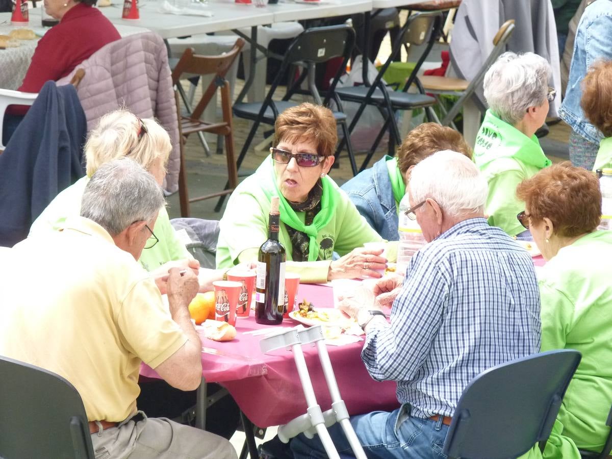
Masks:
[[[134,222],[150,222],[165,205],[162,188],[129,158],[103,164],[83,192],[81,217],[116,236]]]

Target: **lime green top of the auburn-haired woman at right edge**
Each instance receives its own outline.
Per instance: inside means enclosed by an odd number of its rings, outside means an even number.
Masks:
[[[559,250],[539,272],[542,351],[577,349],[582,360],[558,419],[580,449],[602,450],[612,400],[612,231]]]

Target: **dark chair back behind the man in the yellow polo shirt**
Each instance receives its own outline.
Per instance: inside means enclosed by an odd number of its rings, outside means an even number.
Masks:
[[[83,401],[72,384],[0,356],[0,457],[94,458]]]

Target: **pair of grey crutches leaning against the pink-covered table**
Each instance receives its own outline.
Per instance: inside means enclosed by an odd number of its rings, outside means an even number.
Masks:
[[[302,345],[308,344],[316,346],[323,374],[325,375],[327,387],[332,398],[332,407],[325,412],[321,411],[321,407],[316,401],[315,390],[313,389],[306,360],[304,359]],[[321,442],[323,442],[323,447],[328,457],[330,459],[340,459],[340,455],[338,455],[326,428],[338,422],[351,445],[351,449],[353,449],[355,457],[365,459],[364,449],[361,447],[359,439],[357,439],[357,435],[353,430],[346,405],[340,396],[340,390],[338,390],[338,383],[329,360],[321,326],[310,328],[298,326],[294,329],[263,338],[259,341],[259,346],[263,353],[268,353],[275,349],[291,348],[293,358],[296,361],[297,374],[299,375],[306,397],[307,412],[278,427],[278,438],[282,442],[287,443],[299,433],[304,432],[304,435],[308,438],[312,438],[317,433]]]

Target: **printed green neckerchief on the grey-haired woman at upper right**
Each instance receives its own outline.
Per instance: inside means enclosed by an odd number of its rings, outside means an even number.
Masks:
[[[514,158],[539,169],[551,165],[535,135],[529,138],[487,110],[476,136],[474,162],[482,169],[498,158]]]

